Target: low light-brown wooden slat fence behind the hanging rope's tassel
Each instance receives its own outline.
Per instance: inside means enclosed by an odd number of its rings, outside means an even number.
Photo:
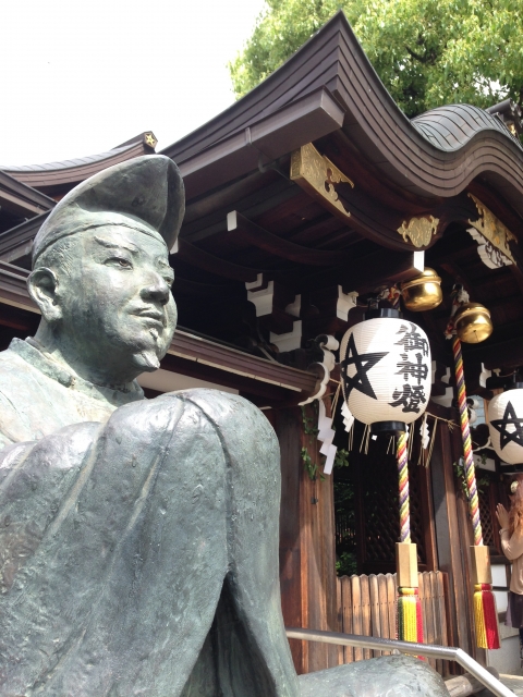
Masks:
[[[425,644],[448,646],[443,573],[418,574],[423,608]],[[396,638],[396,574],[342,576],[338,578],[338,617],[345,634]],[[382,656],[389,651],[373,651],[350,646],[340,648],[340,662],[352,663]],[[438,673],[447,674],[445,661],[430,660]]]

